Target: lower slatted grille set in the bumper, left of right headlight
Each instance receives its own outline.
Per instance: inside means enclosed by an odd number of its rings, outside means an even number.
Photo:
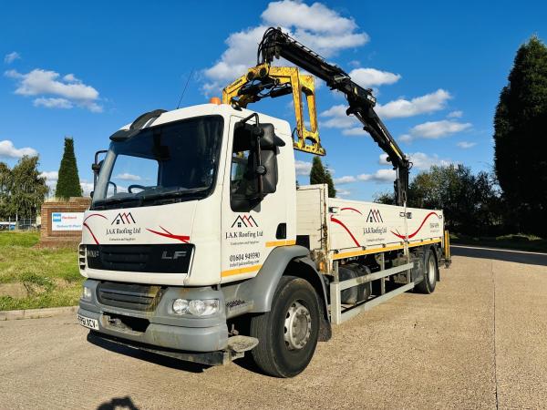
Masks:
[[[134,283],[100,282],[97,286],[98,302],[135,311],[153,311],[161,293],[160,286]]]

